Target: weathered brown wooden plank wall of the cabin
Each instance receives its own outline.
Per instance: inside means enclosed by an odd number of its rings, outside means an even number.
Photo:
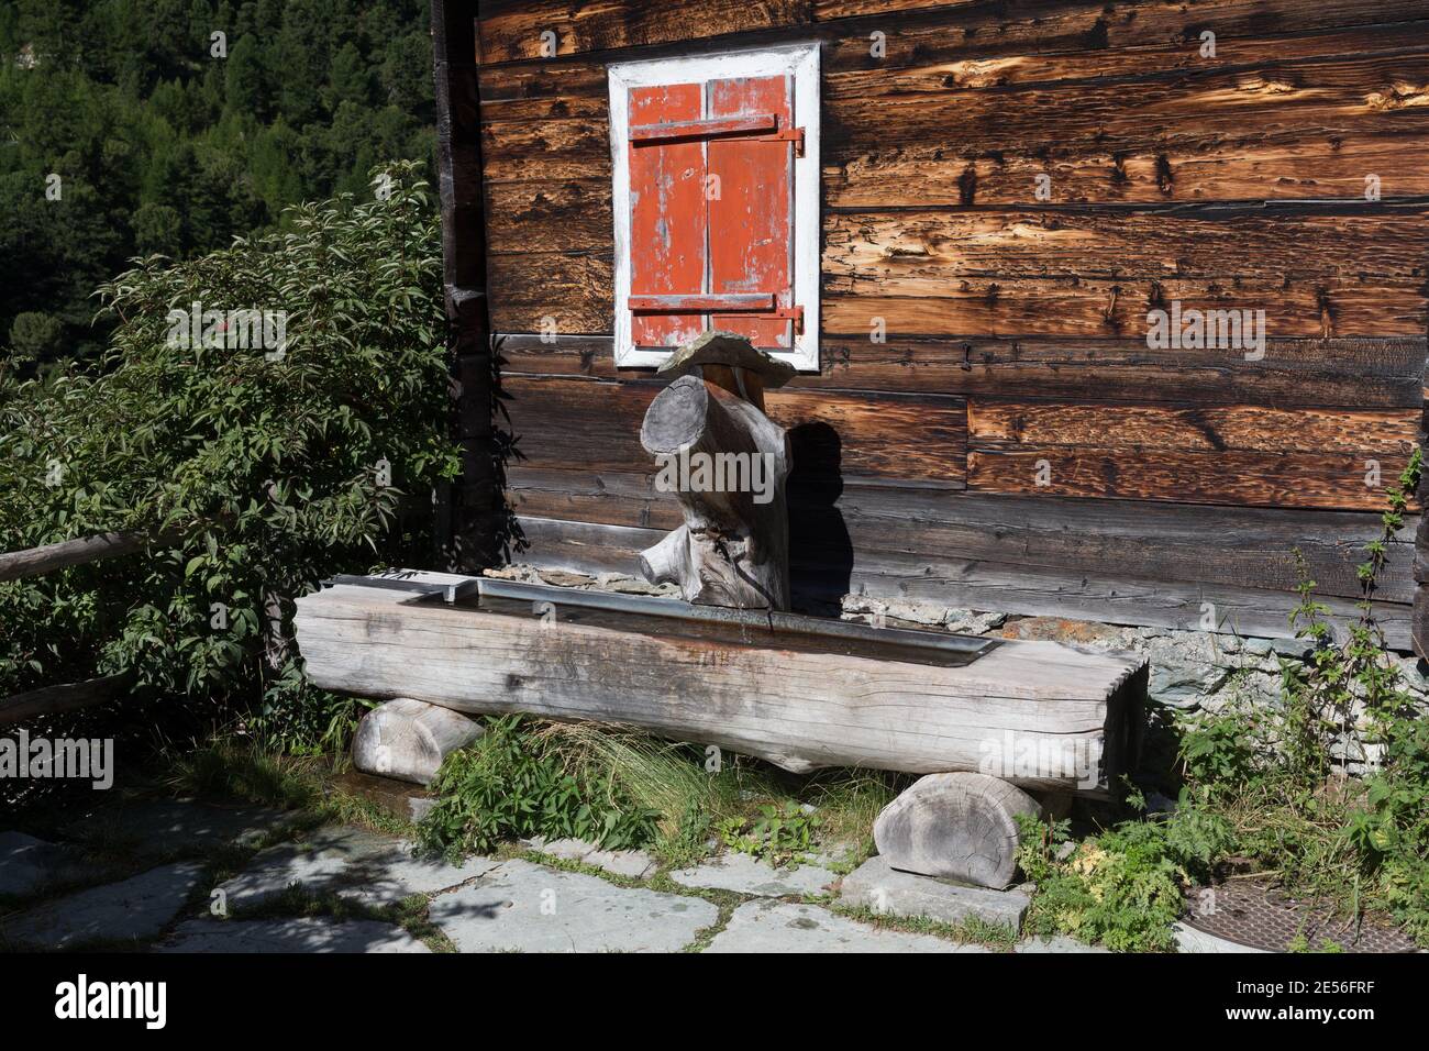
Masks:
[[[1423,409],[1422,0],[482,4],[513,558],[633,572],[679,520],[637,439],[659,383],[612,353],[606,63],[805,40],[822,372],[769,399],[796,588],[1283,635],[1299,548],[1350,611],[1366,462],[1393,482]],[[1170,300],[1263,309],[1263,359],[1147,349]],[[1413,525],[1378,592],[1400,648]]]

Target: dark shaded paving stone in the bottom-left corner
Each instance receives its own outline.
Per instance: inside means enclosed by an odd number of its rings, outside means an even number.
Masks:
[[[0,944],[60,949],[153,938],[179,915],[201,875],[203,865],[183,861],[57,898],[0,921]]]

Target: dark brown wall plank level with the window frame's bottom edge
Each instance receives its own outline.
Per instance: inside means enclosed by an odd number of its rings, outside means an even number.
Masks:
[[[499,336],[509,372],[640,379],[616,369],[609,336]],[[1103,402],[1416,408],[1429,340],[1269,339],[1265,356],[1152,350],[1140,339],[890,339],[825,335],[822,370],[796,388],[1073,398]]]

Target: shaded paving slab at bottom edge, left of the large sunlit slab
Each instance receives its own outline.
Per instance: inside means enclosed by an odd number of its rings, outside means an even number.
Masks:
[[[407,931],[376,919],[190,919],[159,952],[430,952]]]

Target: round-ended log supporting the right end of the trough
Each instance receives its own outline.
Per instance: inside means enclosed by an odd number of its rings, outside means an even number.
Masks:
[[[929,774],[873,822],[873,842],[902,872],[1003,888],[1017,871],[1016,816],[1037,801],[987,774]]]

